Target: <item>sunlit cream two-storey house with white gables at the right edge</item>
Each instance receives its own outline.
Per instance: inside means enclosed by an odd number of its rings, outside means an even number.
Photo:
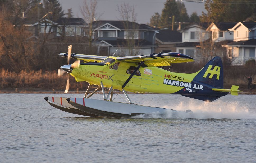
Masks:
[[[238,22],[229,28],[234,33],[233,41],[222,45],[232,65],[243,65],[249,59],[256,59],[256,22]]]

